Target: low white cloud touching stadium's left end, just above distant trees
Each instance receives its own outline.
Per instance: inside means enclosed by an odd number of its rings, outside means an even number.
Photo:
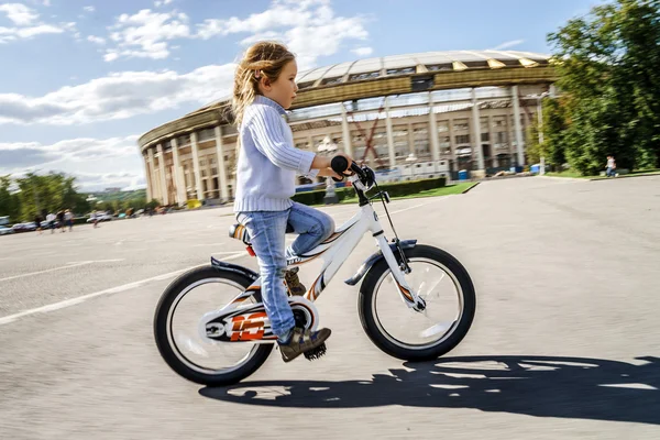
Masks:
[[[144,187],[144,168],[138,135],[111,139],[73,139],[53,144],[37,142],[0,143],[0,174],[23,175],[63,172],[76,176],[85,190],[110,186]],[[108,161],[113,173],[108,173]]]

